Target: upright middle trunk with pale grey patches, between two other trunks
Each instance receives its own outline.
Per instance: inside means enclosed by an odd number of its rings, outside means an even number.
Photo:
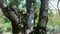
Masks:
[[[26,0],[27,26],[26,26],[25,34],[33,34],[35,3],[36,3],[36,0]]]

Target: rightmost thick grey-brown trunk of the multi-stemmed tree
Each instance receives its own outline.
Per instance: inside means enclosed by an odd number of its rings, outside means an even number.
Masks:
[[[48,0],[41,0],[41,8],[37,24],[36,34],[47,34],[46,27],[48,21]]]

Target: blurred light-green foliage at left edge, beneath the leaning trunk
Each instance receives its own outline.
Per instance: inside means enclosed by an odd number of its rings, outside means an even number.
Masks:
[[[6,18],[0,10],[0,32],[12,31],[11,22]]]

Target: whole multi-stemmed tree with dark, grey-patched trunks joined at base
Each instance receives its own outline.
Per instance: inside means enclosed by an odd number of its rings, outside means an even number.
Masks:
[[[11,21],[13,34],[46,34],[48,21],[48,0],[41,0],[39,21],[35,27],[36,0],[26,0],[27,13],[23,14],[18,6],[22,0],[0,0],[0,8],[4,15]],[[20,1],[20,2],[19,2]],[[21,26],[23,23],[23,27]]]

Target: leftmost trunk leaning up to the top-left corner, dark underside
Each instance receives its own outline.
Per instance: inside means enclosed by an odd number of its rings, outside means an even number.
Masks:
[[[5,1],[3,0],[0,0],[0,8],[2,9],[4,15],[11,21],[13,34],[19,34],[22,28],[20,26],[20,20],[18,16],[13,12],[13,10],[10,7],[7,6]]]

